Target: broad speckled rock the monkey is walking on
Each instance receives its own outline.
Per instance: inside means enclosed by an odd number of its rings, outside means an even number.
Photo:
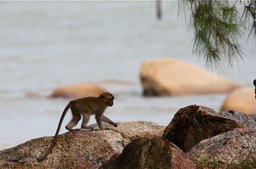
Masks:
[[[104,123],[104,127],[115,128],[120,133],[113,130],[86,130],[60,134],[52,152],[41,162],[37,162],[36,158],[48,149],[53,137],[32,139],[0,151],[0,168],[98,168],[114,154],[120,154],[133,138],[160,137],[165,128],[141,121],[117,125],[116,128]],[[137,132],[138,128],[141,131]],[[125,129],[129,130],[126,132]]]

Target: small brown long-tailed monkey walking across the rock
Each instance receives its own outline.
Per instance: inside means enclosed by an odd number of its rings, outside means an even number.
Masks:
[[[109,118],[103,115],[106,107],[113,106],[114,99],[115,97],[111,93],[104,92],[98,97],[82,97],[82,98],[70,101],[69,104],[65,107],[65,109],[62,112],[56,133],[54,135],[54,138],[52,140],[50,147],[44,154],[42,154],[39,158],[37,158],[37,160],[38,161],[44,160],[47,157],[47,155],[52,151],[58,138],[61,123],[67,111],[69,110],[69,108],[71,109],[71,112],[73,115],[72,120],[66,125],[66,129],[69,131],[79,130],[79,129],[73,129],[72,127],[76,126],[77,123],[81,120],[81,115],[83,117],[82,124],[81,124],[81,127],[83,129],[94,130],[92,126],[87,126],[91,115],[95,115],[95,119],[100,130],[103,130],[102,121],[106,123],[110,123],[113,126],[117,127],[117,124],[115,122],[113,122],[112,120],[110,120]]]

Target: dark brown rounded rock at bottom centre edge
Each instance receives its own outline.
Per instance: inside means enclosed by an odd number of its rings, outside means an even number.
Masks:
[[[195,168],[177,146],[160,138],[138,138],[101,168]]]

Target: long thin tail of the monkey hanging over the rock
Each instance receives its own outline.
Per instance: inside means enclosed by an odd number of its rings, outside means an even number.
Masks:
[[[53,138],[53,140],[52,140],[52,143],[51,143],[50,147],[48,148],[48,150],[47,150],[44,154],[42,154],[39,158],[37,158],[38,161],[44,160],[44,159],[47,157],[47,155],[48,155],[48,154],[52,151],[52,149],[54,148],[54,146],[55,146],[55,144],[56,144],[56,142],[57,142],[57,138],[58,138],[58,134],[59,134],[59,129],[60,129],[60,127],[61,127],[62,121],[63,121],[65,115],[67,114],[67,111],[69,110],[69,108],[70,108],[73,104],[74,104],[74,103],[73,103],[72,101],[69,102],[69,104],[68,104],[68,105],[65,107],[65,109],[63,110],[62,115],[61,115],[61,118],[60,118],[60,120],[59,120],[58,128],[57,128],[56,133],[55,133],[55,136],[54,136],[54,138]]]

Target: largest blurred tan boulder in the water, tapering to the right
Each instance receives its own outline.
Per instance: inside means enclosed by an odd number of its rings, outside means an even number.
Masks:
[[[225,93],[240,87],[198,66],[173,58],[144,62],[140,78],[144,96]]]

